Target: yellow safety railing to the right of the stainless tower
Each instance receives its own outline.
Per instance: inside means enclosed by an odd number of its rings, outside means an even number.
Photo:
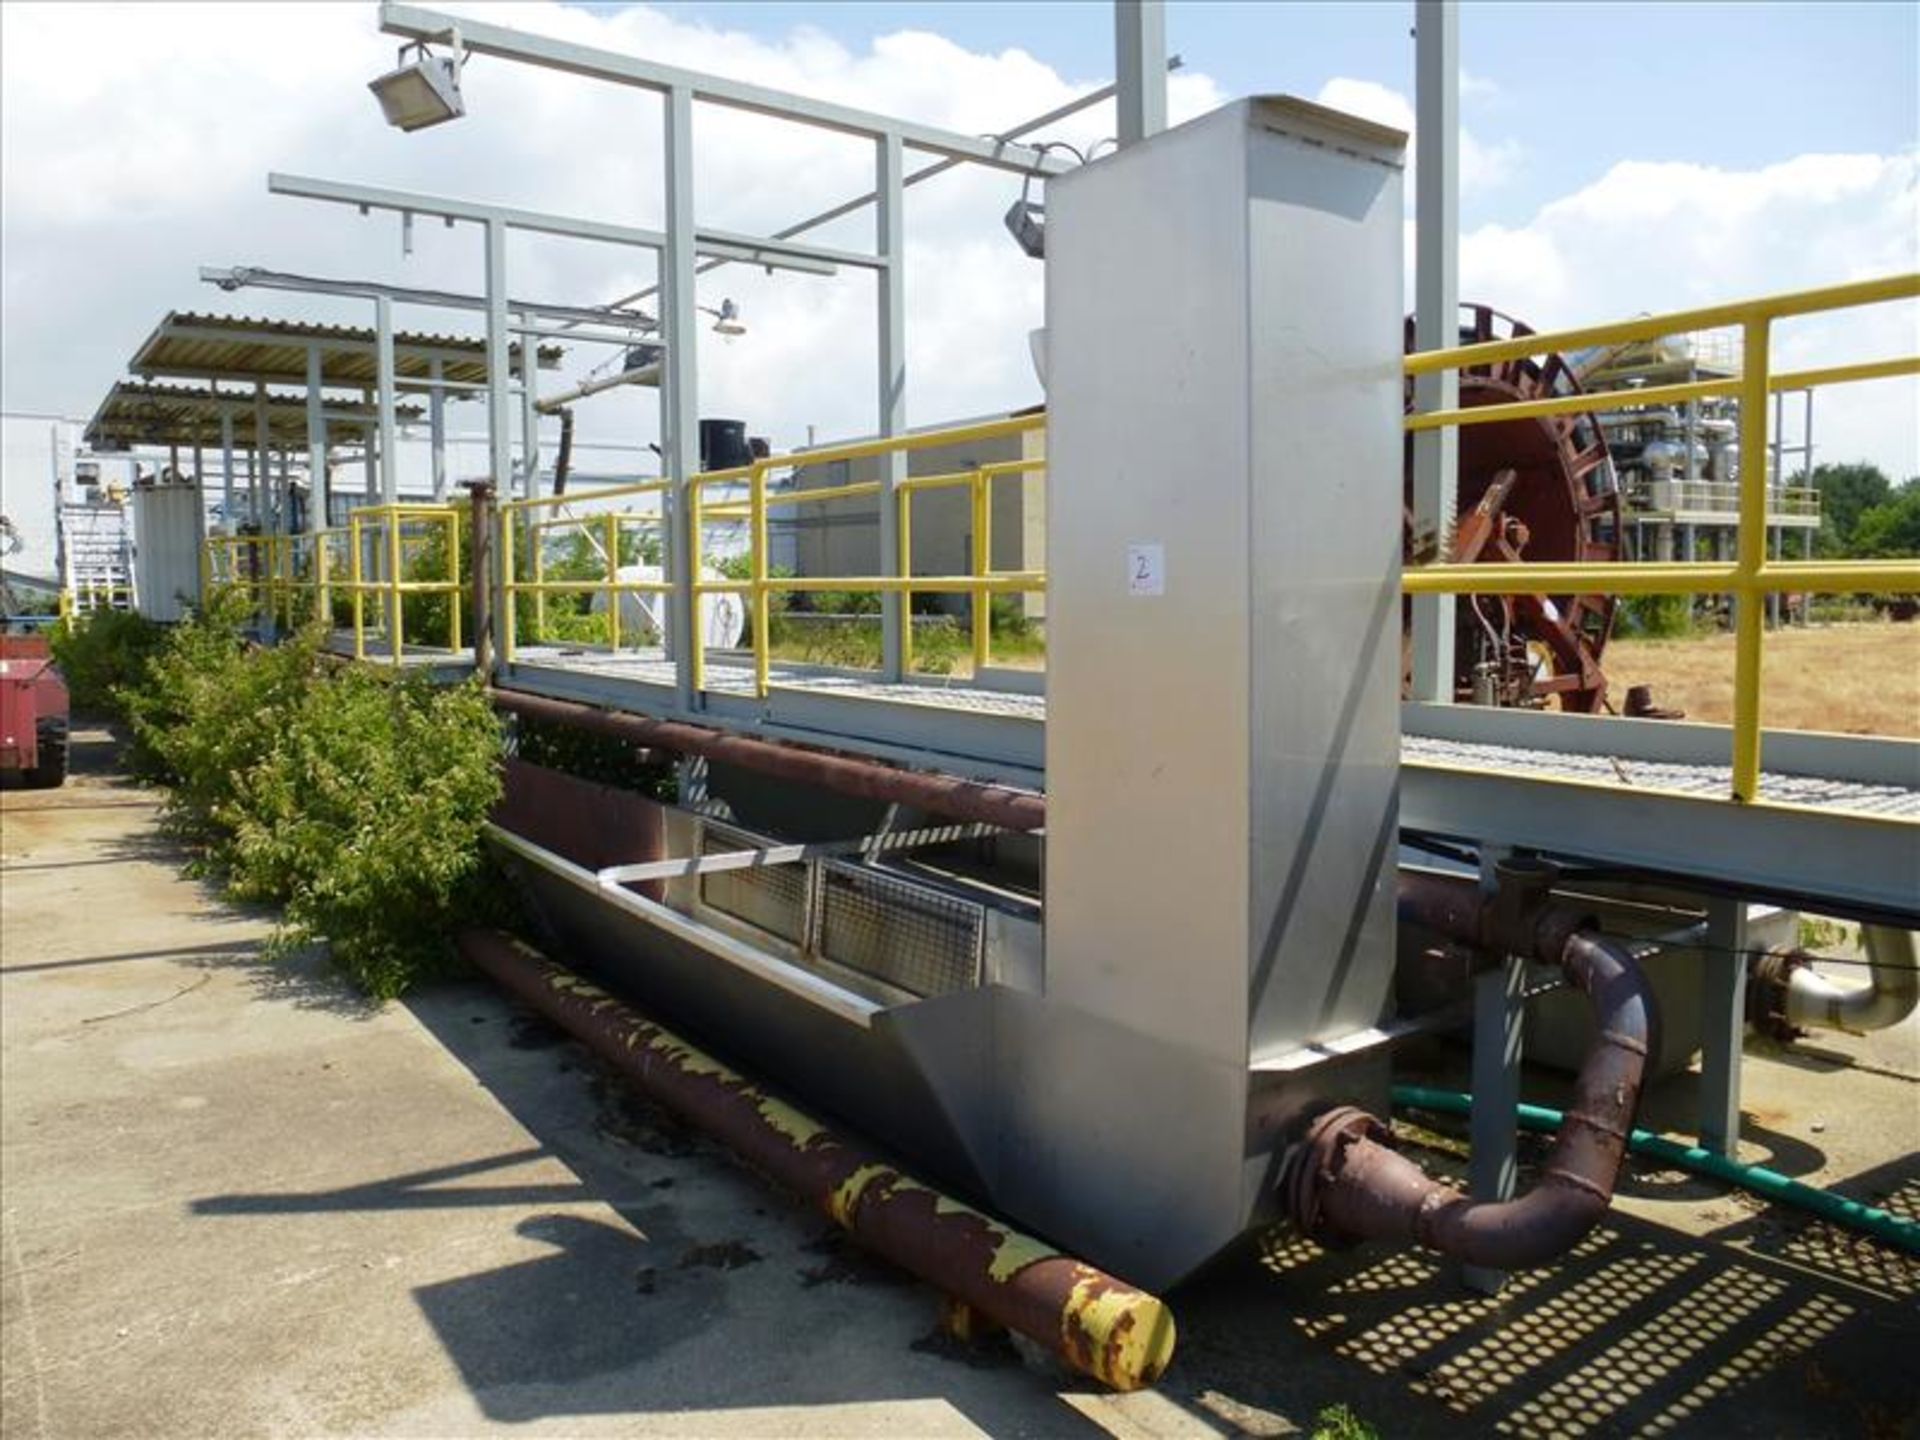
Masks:
[[[1816,371],[1772,374],[1770,344],[1774,321],[1795,315],[1880,305],[1893,300],[1920,298],[1920,275],[1895,275],[1884,280],[1801,290],[1763,300],[1743,300],[1730,305],[1651,315],[1620,324],[1590,324],[1557,334],[1528,334],[1517,340],[1494,340],[1453,349],[1428,349],[1407,355],[1407,374],[1434,374],[1475,365],[1571,351],[1588,346],[1615,346],[1634,340],[1653,340],[1663,334],[1705,330],[1738,324],[1741,332],[1743,371],[1734,378],[1699,380],[1692,384],[1645,386],[1636,390],[1636,405],[1674,405],[1711,396],[1740,399],[1740,547],[1732,564],[1726,563],[1638,563],[1607,561],[1588,564],[1425,564],[1405,572],[1404,589],[1409,595],[1734,595],[1734,799],[1755,801],[1761,793],[1761,641],[1764,636],[1764,605],[1768,593],[1901,593],[1920,589],[1920,557],[1899,561],[1768,561],[1766,559],[1766,451],[1768,403],[1780,390],[1809,390],[1814,386],[1882,380],[1920,374],[1920,355],[1868,361],[1862,365],[1832,365]],[[1475,405],[1467,409],[1427,411],[1409,415],[1407,430],[1436,430],[1459,424],[1496,424],[1546,415],[1572,415],[1594,409],[1596,397],[1555,396],[1507,405]]]

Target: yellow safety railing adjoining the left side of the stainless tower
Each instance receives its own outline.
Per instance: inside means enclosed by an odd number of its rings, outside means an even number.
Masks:
[[[820,505],[847,499],[868,499],[883,493],[879,480],[858,480],[818,490],[768,490],[768,476],[774,470],[793,470],[839,461],[883,459],[906,455],[916,449],[935,449],[945,445],[970,445],[987,440],[1023,436],[1046,426],[1044,415],[1020,415],[1006,420],[983,420],[950,430],[922,430],[908,436],[885,440],[858,440],[847,445],[826,445],[789,455],[768,455],[730,470],[708,470],[697,474],[687,484],[689,532],[693,536],[693,595],[699,607],[705,595],[743,595],[749,609],[749,632],[753,637],[753,691],[764,697],[772,689],[772,597],[776,593],[818,593],[847,591],[866,595],[900,595],[902,611],[910,611],[914,593],[964,593],[973,597],[973,664],[983,668],[991,651],[991,597],[1006,593],[1031,593],[1046,589],[1046,576],[1039,570],[1000,572],[991,566],[991,492],[993,482],[1008,474],[1025,474],[1044,468],[1044,459],[1002,461],[981,465],[954,474],[929,474],[902,478],[895,488],[899,507],[899,563],[891,576],[772,576],[768,574],[768,513],[780,505]],[[707,505],[710,488],[739,490],[745,486],[747,499]],[[916,576],[912,572],[912,516],[910,505],[916,493],[945,488],[966,488],[972,497],[973,545],[968,574]],[[708,520],[745,518],[747,520],[747,559],[745,580],[705,580],[703,578],[703,530]],[[900,616],[902,670],[912,668],[912,614]],[[693,689],[707,689],[707,632],[699,624],[695,609],[691,680]]]

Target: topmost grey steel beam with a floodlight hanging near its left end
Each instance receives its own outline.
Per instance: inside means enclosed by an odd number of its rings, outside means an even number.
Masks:
[[[916,125],[912,121],[893,119],[891,115],[876,115],[851,106],[835,106],[828,100],[787,94],[785,90],[772,90],[764,84],[747,84],[743,81],[720,79],[718,75],[701,75],[699,71],[680,69],[676,65],[659,65],[651,60],[641,60],[639,56],[620,54],[618,50],[599,50],[595,46],[574,44],[570,40],[553,40],[543,35],[528,35],[505,25],[455,19],[453,15],[438,10],[424,10],[420,6],[386,4],[380,8],[380,29],[388,35],[405,35],[415,40],[436,40],[444,38],[455,25],[459,25],[461,42],[467,46],[467,52],[474,56],[497,56],[501,60],[518,60],[530,65],[564,71],[568,75],[612,81],[614,84],[632,84],[641,90],[685,94],[689,102],[705,100],[708,104],[728,106],[730,109],[745,109],[755,115],[772,115],[776,119],[797,121],[801,125],[814,125],[824,131],[864,134],[876,140],[883,134],[895,134],[916,150],[972,159],[975,163],[993,165],[1018,175],[1060,175],[1068,169],[1066,161],[1054,159],[1039,150],[1029,150],[1027,146],[981,140],[973,134],[958,134],[933,125]]]

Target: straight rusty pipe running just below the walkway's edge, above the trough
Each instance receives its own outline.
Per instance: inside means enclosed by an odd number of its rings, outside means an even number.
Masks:
[[[722,764],[735,764],[741,770],[756,770],[764,776],[791,780],[801,785],[820,785],[822,789],[839,791],[862,801],[910,804],[929,814],[973,820],[985,826],[998,826],[1000,829],[1031,831],[1046,828],[1044,795],[983,785],[975,780],[960,780],[956,776],[900,770],[879,760],[831,755],[799,745],[753,739],[751,735],[728,735],[720,730],[689,726],[680,720],[653,720],[643,714],[599,710],[591,705],[557,701],[547,695],[490,689],[488,697],[495,708],[507,714],[524,714],[532,720],[576,726],[597,735],[612,735],[614,739],[653,745],[662,751],[676,751],[678,755],[701,755]]]

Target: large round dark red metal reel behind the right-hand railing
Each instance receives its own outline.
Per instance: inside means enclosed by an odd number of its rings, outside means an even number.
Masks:
[[[1532,334],[1490,305],[1461,305],[1459,344]],[[1407,317],[1413,349],[1413,317]],[[1578,396],[1559,353],[1476,365],[1459,372],[1459,403]],[[1413,380],[1405,388],[1413,409]],[[1484,511],[1482,501],[1486,501]],[[1617,561],[1620,488],[1607,438],[1592,415],[1549,415],[1459,428],[1459,515],[1440,538],[1446,557],[1475,561]],[[1405,555],[1413,561],[1413,436],[1405,444]],[[1617,595],[1469,597],[1455,609],[1453,693],[1461,701],[1599,710],[1607,676],[1599,657],[1613,634]],[[1402,678],[1411,685],[1411,605],[1404,614]]]

